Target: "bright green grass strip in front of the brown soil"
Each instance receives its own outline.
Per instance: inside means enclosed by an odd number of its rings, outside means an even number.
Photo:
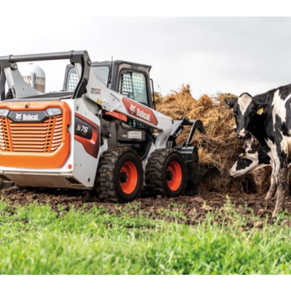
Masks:
[[[11,209],[0,201],[0,274],[291,274],[288,226],[243,230],[245,218],[230,205],[198,226],[120,211],[58,217],[48,205]]]

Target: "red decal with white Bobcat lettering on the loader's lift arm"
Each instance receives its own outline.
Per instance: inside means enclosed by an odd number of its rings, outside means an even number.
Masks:
[[[143,106],[139,103],[136,103],[134,101],[131,101],[127,98],[123,98],[122,101],[129,114],[136,116],[140,119],[143,119],[146,122],[151,123],[153,125],[158,124],[158,120],[150,108]]]

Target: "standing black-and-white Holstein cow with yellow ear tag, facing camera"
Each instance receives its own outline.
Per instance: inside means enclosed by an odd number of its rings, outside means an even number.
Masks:
[[[291,146],[291,84],[252,97],[243,93],[236,99],[225,98],[233,108],[236,120],[236,137],[257,138],[266,153],[273,157],[272,179],[276,183],[277,199],[273,216],[284,207],[288,193],[287,158]],[[271,182],[272,183],[272,182]],[[266,199],[274,195],[270,187]]]

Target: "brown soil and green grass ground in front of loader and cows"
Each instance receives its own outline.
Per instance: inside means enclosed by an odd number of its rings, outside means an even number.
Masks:
[[[86,193],[1,194],[1,274],[291,273],[291,216],[272,219],[274,202],[259,194],[126,205]]]

